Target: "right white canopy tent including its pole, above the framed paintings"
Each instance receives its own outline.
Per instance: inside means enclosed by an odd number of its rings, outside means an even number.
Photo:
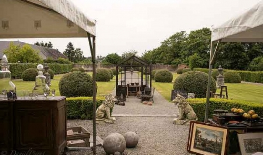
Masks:
[[[218,44],[220,42],[263,42],[262,13],[263,1],[256,4],[238,17],[232,18],[222,25],[214,26],[212,28],[205,122],[208,121],[211,74]]]

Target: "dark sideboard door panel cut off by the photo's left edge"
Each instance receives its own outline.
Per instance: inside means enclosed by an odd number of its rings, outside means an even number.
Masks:
[[[0,102],[0,150],[12,149],[13,143],[13,114],[12,102]]]

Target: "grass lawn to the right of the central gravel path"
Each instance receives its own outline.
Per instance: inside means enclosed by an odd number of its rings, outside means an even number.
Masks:
[[[173,73],[173,81],[179,75]],[[245,100],[251,102],[263,103],[263,86],[262,85],[252,85],[252,84],[230,84],[226,83],[228,90],[229,99]],[[171,90],[173,89],[173,82],[171,83],[162,83],[152,81],[152,86],[156,88],[158,92],[168,101],[171,98]],[[216,93],[220,93],[220,89],[216,90]],[[224,93],[224,92],[223,92]]]

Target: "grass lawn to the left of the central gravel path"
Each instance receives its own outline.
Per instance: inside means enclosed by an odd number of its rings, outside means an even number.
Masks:
[[[92,72],[87,72],[87,74],[92,76]],[[59,94],[59,80],[63,76],[63,74],[55,75],[54,79],[51,80],[50,89],[56,90],[56,95]],[[17,90],[33,90],[34,81],[23,81],[22,79],[12,80],[16,85]],[[110,94],[112,90],[115,88],[115,77],[109,82],[97,82],[98,92],[97,95],[105,95]]]

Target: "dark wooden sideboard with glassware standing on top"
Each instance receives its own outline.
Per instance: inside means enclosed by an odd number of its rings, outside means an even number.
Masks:
[[[64,96],[13,101],[0,98],[0,151],[58,155],[67,145],[66,121]]]

